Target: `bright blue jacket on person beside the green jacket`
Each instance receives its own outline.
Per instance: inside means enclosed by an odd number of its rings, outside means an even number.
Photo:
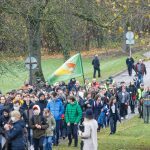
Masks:
[[[55,120],[61,119],[61,115],[64,113],[64,106],[60,99],[55,99],[55,100],[50,101],[47,104],[47,108],[51,111]]]

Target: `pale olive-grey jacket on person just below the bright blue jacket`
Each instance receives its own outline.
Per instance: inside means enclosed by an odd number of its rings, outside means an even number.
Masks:
[[[50,115],[48,118],[46,118],[46,122],[49,125],[49,127],[46,129],[46,136],[53,136],[53,132],[56,127],[56,122],[54,117]]]

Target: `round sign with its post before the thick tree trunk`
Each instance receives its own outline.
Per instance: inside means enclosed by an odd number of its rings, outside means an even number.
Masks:
[[[35,57],[27,57],[25,66],[29,70],[29,83],[32,85],[32,70],[37,67],[37,60]]]

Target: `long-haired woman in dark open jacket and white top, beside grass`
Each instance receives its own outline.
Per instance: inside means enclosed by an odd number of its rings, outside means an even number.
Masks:
[[[110,98],[110,115],[109,115],[110,134],[116,133],[117,120],[120,121],[119,113],[117,110],[116,97],[112,96]]]

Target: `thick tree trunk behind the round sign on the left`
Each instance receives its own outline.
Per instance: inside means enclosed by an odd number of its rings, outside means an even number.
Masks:
[[[35,10],[33,17],[28,17],[26,20],[29,34],[28,49],[29,55],[37,60],[37,68],[32,70],[32,83],[36,82],[37,78],[45,81],[41,67],[41,37],[40,37],[40,11]]]

